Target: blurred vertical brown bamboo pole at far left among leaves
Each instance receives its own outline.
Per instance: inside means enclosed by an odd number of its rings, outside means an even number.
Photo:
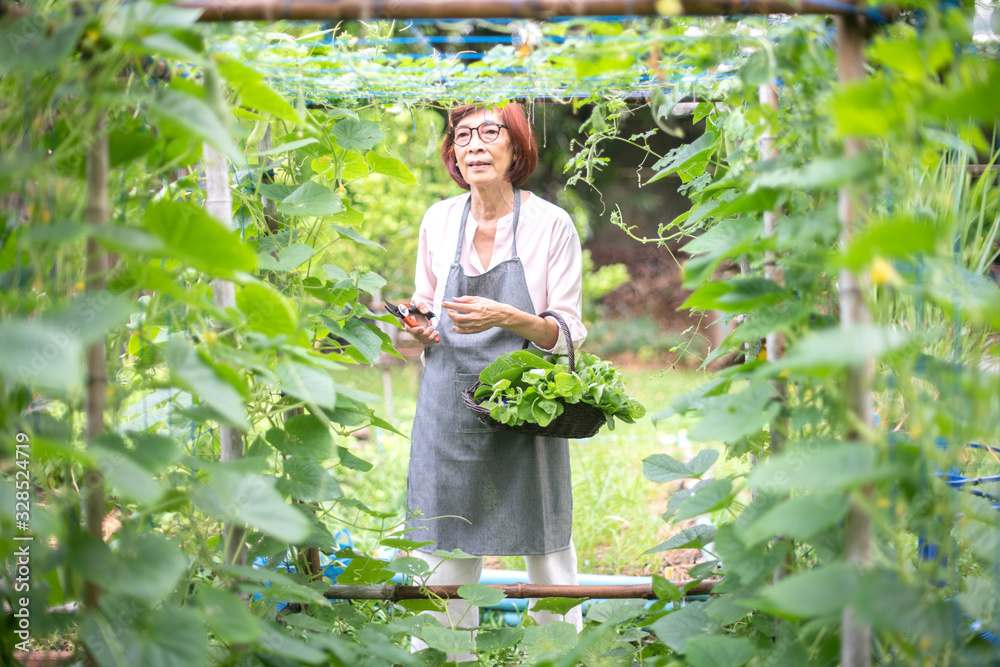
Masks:
[[[106,225],[111,219],[111,200],[108,195],[108,180],[111,160],[108,153],[108,135],[104,128],[104,112],[98,113],[94,123],[94,142],[87,151],[87,211],[86,220],[92,225]],[[85,286],[90,294],[103,292],[108,275],[108,253],[101,248],[93,236],[87,239],[87,264]],[[104,410],[107,401],[108,369],[104,338],[87,347],[87,389],[86,389],[86,435],[87,442],[93,441],[104,432]],[[84,520],[87,531],[96,539],[104,541],[104,477],[96,468],[91,468],[86,476],[84,496]],[[90,611],[96,610],[101,598],[101,587],[93,581],[84,582],[83,604]],[[87,663],[97,665],[97,661],[87,652]]]

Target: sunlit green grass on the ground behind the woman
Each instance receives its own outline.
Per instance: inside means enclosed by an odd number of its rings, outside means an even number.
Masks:
[[[402,432],[409,433],[413,420],[417,391],[418,368],[415,364],[394,367],[390,421]],[[704,375],[692,371],[632,367],[622,371],[631,396],[641,401],[649,414],[670,405],[674,396],[689,391],[704,382]],[[382,377],[377,369],[358,369],[349,378],[338,378],[366,391],[381,394]],[[385,413],[383,404],[380,412]],[[378,408],[376,408],[378,409]],[[646,574],[659,572],[662,560],[644,556],[676,527],[667,526],[659,514],[666,507],[669,490],[653,484],[642,475],[642,459],[664,452],[678,458],[690,458],[691,451],[678,443],[678,434],[689,428],[691,420],[673,416],[654,425],[649,416],[636,424],[618,423],[614,431],[603,428],[588,440],[570,443],[573,475],[573,539],[580,562],[580,571],[602,574]],[[338,479],[347,495],[369,507],[401,516],[406,500],[406,470],[409,440],[384,430],[376,430],[365,440],[346,443],[355,454],[374,464],[371,471],[360,473],[341,468]],[[399,522],[399,518],[378,521],[360,513],[343,516],[342,523],[353,525],[352,532],[359,547],[372,548],[380,531]],[[362,530],[367,526],[369,530]],[[501,558],[488,566],[523,569],[522,558]]]

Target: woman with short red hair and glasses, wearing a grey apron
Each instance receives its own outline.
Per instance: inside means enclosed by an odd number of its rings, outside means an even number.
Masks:
[[[460,394],[525,339],[565,352],[556,322],[536,313],[558,312],[582,342],[580,238],[564,210],[519,189],[538,164],[520,105],[459,107],[450,125],[441,157],[469,193],[434,204],[420,224],[413,304],[440,322],[407,327],[426,346],[407,479],[411,537],[434,541],[416,554],[434,570],[431,584],[478,583],[483,567],[482,558],[442,561],[435,549],[522,555],[531,583],[575,584],[567,441],[487,428]],[[475,609],[451,605],[453,620],[478,624]],[[579,629],[579,608],[566,620]]]

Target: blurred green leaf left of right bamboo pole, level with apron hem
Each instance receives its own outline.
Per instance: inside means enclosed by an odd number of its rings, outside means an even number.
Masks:
[[[847,514],[848,502],[843,493],[808,494],[784,500],[743,531],[743,541],[754,546],[781,536],[807,542],[820,535]]]

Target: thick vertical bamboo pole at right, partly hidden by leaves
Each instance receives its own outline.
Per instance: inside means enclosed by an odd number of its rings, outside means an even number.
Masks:
[[[837,70],[840,82],[848,83],[865,77],[864,66],[864,26],[856,16],[837,17]],[[874,110],[873,110],[874,111]],[[864,142],[848,137],[844,142],[844,154],[850,158],[861,154]],[[841,242],[846,245],[854,234],[857,224],[857,210],[860,202],[851,184],[838,193],[838,217],[841,224]],[[843,328],[866,324],[871,321],[871,313],[864,300],[862,287],[865,275],[855,274],[846,269],[840,272],[840,324]],[[861,367],[847,370],[846,395],[850,401],[850,411],[859,424],[870,425],[872,414],[873,364],[868,360]],[[850,440],[858,433],[854,428],[845,434]],[[863,495],[871,494],[871,487],[861,489]],[[845,558],[857,568],[869,566],[871,543],[871,517],[856,501],[851,500],[846,520]],[[841,619],[840,661],[843,667],[870,667],[871,627],[856,620],[851,606],[844,608]]]

